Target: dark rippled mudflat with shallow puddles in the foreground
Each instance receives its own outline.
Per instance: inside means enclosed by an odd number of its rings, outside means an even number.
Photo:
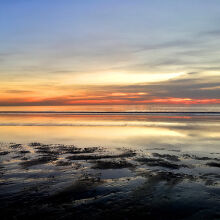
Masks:
[[[1,219],[220,219],[219,152],[0,144]]]

